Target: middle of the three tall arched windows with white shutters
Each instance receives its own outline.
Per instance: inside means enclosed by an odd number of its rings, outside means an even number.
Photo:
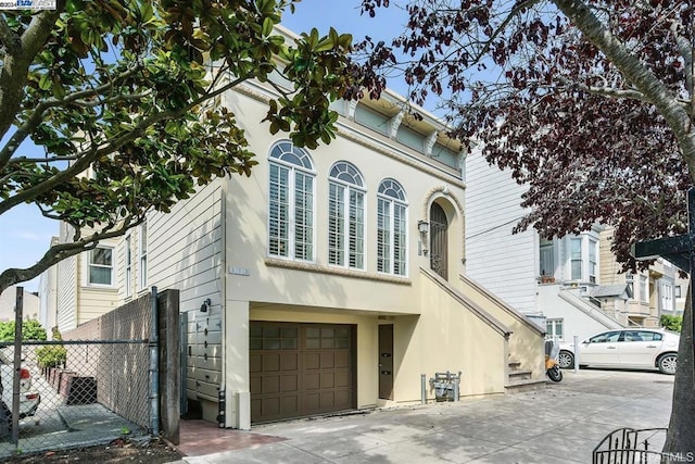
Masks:
[[[328,184],[328,262],[365,268],[365,188],[362,174],[344,161],[333,164]]]

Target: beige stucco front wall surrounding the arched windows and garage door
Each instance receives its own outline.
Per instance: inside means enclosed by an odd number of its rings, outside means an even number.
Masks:
[[[257,91],[257,89],[256,89]],[[263,118],[263,98],[235,93],[242,121]],[[421,401],[422,375],[462,372],[460,396],[498,394],[508,385],[510,360],[544,378],[543,334],[465,275],[465,185],[458,168],[444,166],[388,135],[361,126],[350,114],[329,146],[309,152],[316,174],[315,255],[299,262],[269,255],[269,163],[260,156],[250,179],[231,178],[224,187],[224,277],[217,296],[224,306],[226,425],[250,426],[249,326],[254,321],[346,324],[356,331],[356,407]],[[435,130],[435,128],[430,128]],[[268,153],[277,137],[249,128],[257,153]],[[349,269],[328,262],[328,173],[349,161],[365,180],[365,266]],[[376,190],[395,179],[407,193],[407,273],[377,272]],[[446,278],[430,269],[430,237],[418,231],[429,222],[432,203],[446,214]],[[255,205],[255,208],[249,208]],[[213,298],[213,305],[216,303]],[[393,396],[379,398],[379,325],[393,325]],[[511,347],[511,350],[510,350]],[[429,385],[428,401],[434,396]],[[213,407],[212,405],[210,407]],[[208,414],[212,414],[212,410]]]

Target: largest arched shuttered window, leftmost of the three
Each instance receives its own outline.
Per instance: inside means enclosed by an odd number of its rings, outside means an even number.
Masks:
[[[268,253],[314,260],[314,165],[291,141],[270,149]]]

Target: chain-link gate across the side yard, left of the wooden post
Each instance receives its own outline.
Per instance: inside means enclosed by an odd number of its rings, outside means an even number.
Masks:
[[[13,361],[14,347],[0,343],[0,457],[148,432],[147,341],[24,342],[18,371]]]

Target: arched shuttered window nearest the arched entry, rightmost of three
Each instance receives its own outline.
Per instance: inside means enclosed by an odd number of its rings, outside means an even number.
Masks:
[[[401,184],[384,179],[377,192],[377,271],[406,275],[407,202]]]

